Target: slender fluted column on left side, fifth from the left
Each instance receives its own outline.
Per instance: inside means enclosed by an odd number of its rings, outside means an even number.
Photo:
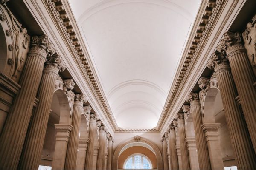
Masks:
[[[99,127],[99,155],[97,158],[97,170],[104,169],[105,160],[105,145],[106,145],[106,128],[105,126]]]

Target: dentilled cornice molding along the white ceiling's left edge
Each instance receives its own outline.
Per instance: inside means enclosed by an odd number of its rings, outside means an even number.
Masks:
[[[35,6],[33,0],[31,0],[31,2]],[[88,85],[98,97],[98,102],[104,108],[103,110],[105,111],[106,118],[109,122],[111,122],[113,128],[116,130],[117,124],[113,119],[113,114],[110,110],[108,103],[106,102],[106,97],[104,93],[102,93],[103,90],[101,86],[97,83],[98,79],[93,74],[88,59],[85,56],[87,55],[87,51],[86,49],[83,49],[83,47],[79,43],[78,37],[76,36],[77,30],[74,29],[76,27],[76,23],[69,18],[66,12],[66,10],[70,11],[70,9],[66,9],[63,5],[63,3],[67,2],[62,2],[61,0],[44,0],[44,2],[48,10],[50,11],[50,14],[52,15],[54,22],[56,23],[57,28],[61,32],[61,35],[66,42],[66,45],[69,47],[71,53],[73,54],[73,57],[82,73],[82,76],[87,82],[90,82],[88,83]]]

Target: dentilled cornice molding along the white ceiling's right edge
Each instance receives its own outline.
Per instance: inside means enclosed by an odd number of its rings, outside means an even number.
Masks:
[[[224,0],[222,0],[222,1],[224,1]],[[195,29],[194,30],[195,32],[194,32],[194,34],[193,34],[193,32],[191,32],[189,41],[186,44],[187,49],[185,50],[185,52],[183,54],[183,57],[182,57],[183,61],[180,62],[179,68],[178,68],[180,73],[176,74],[176,76],[175,76],[176,82],[172,84],[172,88],[169,91],[169,95],[166,100],[166,104],[163,108],[163,112],[161,113],[160,119],[157,123],[158,129],[160,127],[162,127],[164,120],[166,119],[166,115],[169,112],[171,105],[173,105],[174,98],[180,88],[180,85],[182,82],[184,82],[184,79],[186,79],[186,77],[187,77],[186,74],[188,72],[189,65],[191,64],[192,59],[195,58],[195,51],[198,51],[198,45],[201,42],[201,45],[199,48],[204,46],[204,44],[206,42],[205,40],[209,36],[209,34],[205,34],[205,32],[207,32],[207,31],[209,32],[212,29],[212,25],[215,23],[215,20],[214,20],[214,22],[211,21],[211,23],[208,23],[208,22],[212,16],[212,12],[215,8],[216,0],[208,0],[208,2],[206,2],[205,4],[201,4],[201,6],[202,5],[203,5],[203,7],[205,6],[204,11],[202,11],[200,13],[201,16],[198,16],[198,18],[195,20],[194,24],[197,24],[197,26],[196,25],[193,26],[194,27],[193,30]],[[218,6],[218,8],[217,8],[218,10],[215,11],[214,17],[218,16],[218,15],[216,16],[216,13],[219,13],[222,6],[223,6],[223,3],[221,3],[221,5]],[[207,27],[207,29],[206,29],[206,27]]]

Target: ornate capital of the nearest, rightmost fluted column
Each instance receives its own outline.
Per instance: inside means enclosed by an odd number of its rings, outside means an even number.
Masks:
[[[224,38],[221,39],[219,45],[217,46],[217,50],[219,52],[226,52],[228,59],[230,57],[229,54],[239,49],[244,49],[242,35],[239,32],[225,32]]]

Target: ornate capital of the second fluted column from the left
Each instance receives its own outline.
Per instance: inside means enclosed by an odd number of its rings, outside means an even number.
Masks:
[[[53,71],[55,74],[58,74],[60,71],[64,71],[66,69],[66,65],[60,59],[60,56],[55,53],[46,58],[46,62],[44,63],[44,71]]]

